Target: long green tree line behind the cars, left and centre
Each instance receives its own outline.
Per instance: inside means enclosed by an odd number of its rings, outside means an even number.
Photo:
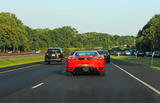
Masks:
[[[0,13],[0,51],[25,52],[48,47],[110,49],[114,46],[134,46],[134,36],[107,33],[78,33],[70,26],[55,29],[32,29],[22,23],[15,14]]]

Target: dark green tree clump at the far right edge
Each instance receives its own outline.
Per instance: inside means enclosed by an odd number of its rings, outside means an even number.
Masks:
[[[152,17],[138,32],[136,47],[143,51],[160,50],[160,15]]]

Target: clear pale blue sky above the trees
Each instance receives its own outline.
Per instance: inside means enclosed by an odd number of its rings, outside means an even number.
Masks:
[[[0,12],[15,13],[32,28],[136,35],[160,14],[160,0],[1,0]]]

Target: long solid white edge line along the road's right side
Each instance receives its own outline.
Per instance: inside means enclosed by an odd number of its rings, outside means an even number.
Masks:
[[[136,79],[138,82],[142,83],[143,85],[145,85],[146,87],[148,87],[149,89],[151,89],[152,91],[154,91],[155,93],[157,93],[158,95],[160,95],[160,91],[157,90],[156,88],[154,88],[151,85],[147,84],[146,82],[140,80],[139,78],[137,78],[136,76],[134,76],[131,73],[127,72],[126,70],[122,69],[118,65],[116,65],[114,63],[112,63],[112,65],[116,66],[117,68],[119,68],[120,70],[122,70],[123,72],[125,72],[126,74],[128,74],[129,76],[131,76],[132,78]]]

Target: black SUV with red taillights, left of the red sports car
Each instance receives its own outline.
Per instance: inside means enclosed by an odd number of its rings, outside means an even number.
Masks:
[[[50,64],[52,61],[64,64],[65,58],[61,48],[49,48],[45,53],[45,63]]]

